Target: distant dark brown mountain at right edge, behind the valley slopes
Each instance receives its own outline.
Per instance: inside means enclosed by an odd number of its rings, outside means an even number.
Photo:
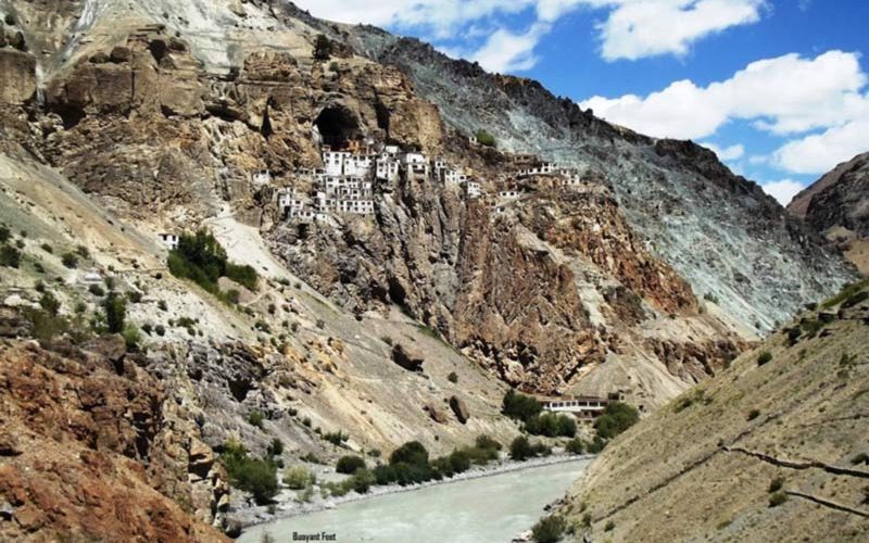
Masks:
[[[840,164],[794,197],[788,211],[869,273],[869,153]]]

